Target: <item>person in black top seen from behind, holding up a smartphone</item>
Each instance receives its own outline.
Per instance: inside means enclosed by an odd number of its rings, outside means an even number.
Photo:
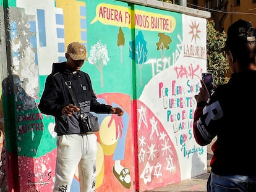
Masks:
[[[237,20],[225,45],[231,78],[210,95],[202,87],[195,95],[194,137],[212,144],[207,191],[256,191],[256,33],[252,24]]]

